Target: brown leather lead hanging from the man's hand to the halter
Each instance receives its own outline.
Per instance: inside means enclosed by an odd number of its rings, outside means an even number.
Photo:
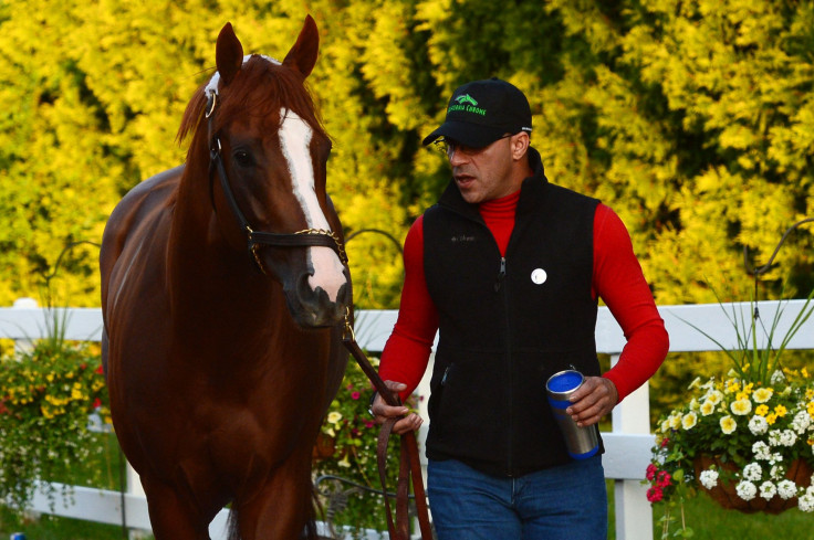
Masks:
[[[365,353],[356,342],[353,327],[351,326],[349,309],[345,311],[345,329],[342,333],[342,342],[356,362],[371,380],[376,391],[385,400],[385,403],[393,406],[401,404],[401,400],[397,394],[385,385],[385,382],[378,375],[371,364]],[[390,501],[387,497],[387,443],[389,442],[393,426],[399,419],[388,419],[382,424],[378,434],[378,446],[376,448],[376,457],[378,459],[378,475],[382,483],[382,491],[385,496],[385,509],[387,511],[387,531],[393,540],[409,540],[409,516],[408,516],[408,498],[409,498],[409,480],[413,478],[413,491],[416,499],[416,511],[418,512],[418,527],[421,531],[421,540],[432,540],[432,529],[429,523],[429,509],[427,508],[427,498],[424,491],[424,478],[421,477],[421,463],[418,457],[418,444],[416,443],[416,434],[407,432],[401,434],[401,454],[399,458],[398,488],[396,490],[396,522],[393,522],[393,512],[390,510]]]

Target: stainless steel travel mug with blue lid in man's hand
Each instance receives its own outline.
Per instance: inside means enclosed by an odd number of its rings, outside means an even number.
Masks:
[[[545,383],[554,420],[563,433],[568,455],[574,459],[586,459],[599,451],[599,435],[596,426],[580,427],[571,415],[565,413],[571,405],[568,398],[582,387],[584,380],[585,378],[578,371],[566,370],[554,373]]]

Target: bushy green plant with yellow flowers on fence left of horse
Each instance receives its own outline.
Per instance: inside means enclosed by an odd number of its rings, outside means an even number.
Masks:
[[[79,481],[77,467],[103,451],[88,428],[91,416],[109,424],[98,352],[66,340],[56,311],[50,319],[48,338],[0,358],[0,499],[21,510],[38,480]],[[53,502],[53,485],[41,488]]]

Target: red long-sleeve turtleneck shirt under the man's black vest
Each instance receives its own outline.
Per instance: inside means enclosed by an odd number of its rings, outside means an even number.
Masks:
[[[514,227],[520,191],[480,204],[480,213],[505,254]],[[405,283],[398,319],[382,353],[379,374],[403,382],[406,399],[424,377],[438,331],[438,311],[424,276],[424,225],[418,218],[404,246]],[[622,220],[604,204],[594,215],[594,273],[592,294],[601,297],[622,327],[627,343],[619,361],[603,377],[613,381],[619,401],[639,388],[659,368],[669,347],[664,321],[634,255]]]

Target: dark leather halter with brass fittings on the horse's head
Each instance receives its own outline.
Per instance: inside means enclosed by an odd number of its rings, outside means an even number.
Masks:
[[[234,199],[231,186],[229,183],[229,176],[226,172],[223,166],[223,158],[221,156],[220,137],[218,134],[212,133],[215,110],[218,106],[218,94],[212,92],[209,94],[207,100],[206,118],[208,120],[208,140],[209,140],[209,189],[210,194],[212,191],[213,177],[217,173],[220,177],[220,186],[223,190],[229,208],[238,222],[238,225],[247,234],[248,248],[254,258],[254,263],[258,265],[263,274],[267,274],[262,262],[259,256],[259,248],[263,245],[271,245],[278,247],[304,247],[304,246],[324,246],[330,247],[336,255],[338,255],[342,264],[347,264],[347,255],[345,254],[345,246],[342,240],[334,231],[327,231],[324,229],[304,229],[294,233],[271,233],[264,231],[254,231],[246,219],[243,212],[240,211],[238,201]]]

